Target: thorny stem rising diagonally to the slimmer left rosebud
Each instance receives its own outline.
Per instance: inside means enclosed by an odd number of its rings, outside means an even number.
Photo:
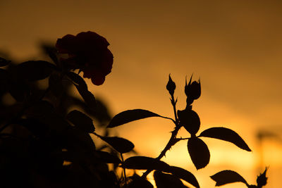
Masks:
[[[176,115],[176,101],[174,99],[173,94],[171,95],[171,104],[173,106],[173,112],[174,112],[174,117],[175,117],[175,124],[176,127],[175,129],[171,132],[171,138],[168,140],[168,143],[166,144],[166,146],[164,147],[164,150],[161,151],[161,153],[159,154],[159,156],[156,158],[157,160],[160,160],[161,158],[163,158],[164,156],[166,156],[166,151],[168,151],[169,149],[171,149],[171,146],[173,146],[174,144],[176,144],[176,142],[178,142],[180,139],[176,139],[176,135],[178,133],[178,130],[180,130],[180,125],[179,125],[179,121]],[[145,173],[143,173],[142,177],[145,178],[147,177],[147,175],[149,173],[151,173],[152,170],[146,170]]]

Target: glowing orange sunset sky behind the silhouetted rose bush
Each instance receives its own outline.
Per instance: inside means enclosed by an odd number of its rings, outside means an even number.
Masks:
[[[214,187],[209,175],[226,168],[255,183],[260,151],[257,130],[282,132],[281,10],[278,0],[0,0],[0,51],[24,60],[39,56],[40,42],[56,42],[66,34],[91,30],[106,37],[114,67],[106,82],[91,90],[110,105],[113,115],[145,108],[173,117],[165,88],[168,74],[177,84],[182,109],[185,76],[194,73],[202,82],[202,96],[194,104],[200,130],[229,127],[253,152],[207,139],[212,153],[207,169],[197,172],[190,165],[184,142],[168,153],[166,161],[195,173],[204,188]],[[124,125],[117,132],[142,154],[154,157],[172,129],[170,122],[151,118]],[[262,150],[264,165],[270,165],[267,187],[275,187],[281,176],[282,144],[267,139]]]

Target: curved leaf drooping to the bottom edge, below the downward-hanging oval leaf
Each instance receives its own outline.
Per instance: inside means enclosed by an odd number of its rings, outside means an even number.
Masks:
[[[168,173],[171,173],[175,175],[176,177],[181,178],[182,180],[185,180],[186,182],[192,184],[194,187],[200,188],[200,185],[196,177],[192,173],[190,173],[188,170],[179,168],[177,166],[171,166],[169,168]]]

